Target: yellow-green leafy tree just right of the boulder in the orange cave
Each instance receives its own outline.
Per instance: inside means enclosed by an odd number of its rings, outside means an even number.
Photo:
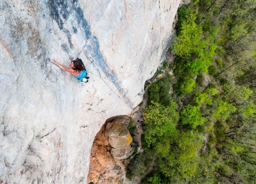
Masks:
[[[145,124],[145,142],[148,147],[165,136],[178,136],[176,125],[179,119],[179,113],[177,112],[177,105],[174,102],[171,102],[167,107],[152,102],[152,105],[145,108],[143,118]]]

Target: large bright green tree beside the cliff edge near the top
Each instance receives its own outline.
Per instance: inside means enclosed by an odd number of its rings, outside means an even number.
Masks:
[[[189,12],[173,45],[177,56],[187,58],[184,66],[191,76],[208,72],[217,49],[217,45],[212,43],[212,37],[203,38],[202,28],[195,23],[196,16],[197,10]],[[190,58],[191,56],[194,57]]]

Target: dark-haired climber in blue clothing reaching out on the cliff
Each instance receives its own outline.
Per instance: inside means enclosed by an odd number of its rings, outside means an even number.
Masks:
[[[76,60],[71,61],[69,65],[70,68],[63,66],[54,59],[49,59],[49,61],[51,61],[53,64],[56,64],[58,67],[60,67],[61,70],[65,70],[71,73],[78,81],[88,82],[89,77],[87,77],[86,67],[84,67],[81,59],[76,58]]]

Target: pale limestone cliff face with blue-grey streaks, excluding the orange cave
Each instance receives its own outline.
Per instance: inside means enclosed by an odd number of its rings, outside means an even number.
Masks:
[[[0,183],[86,182],[95,134],[141,101],[179,1],[0,2]],[[85,87],[48,61],[76,57]]]

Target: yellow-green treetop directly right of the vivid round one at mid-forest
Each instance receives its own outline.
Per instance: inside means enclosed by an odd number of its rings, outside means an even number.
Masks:
[[[237,110],[232,104],[228,104],[223,100],[215,100],[214,108],[212,109],[212,118],[215,120],[227,120],[230,113],[233,113]]]

